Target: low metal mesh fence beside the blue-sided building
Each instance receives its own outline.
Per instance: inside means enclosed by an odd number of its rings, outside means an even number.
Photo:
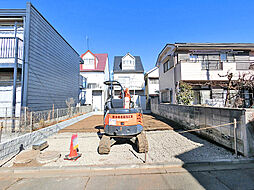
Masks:
[[[0,117],[0,142],[35,130],[54,125],[69,118],[92,111],[91,106],[69,107],[44,111],[31,111],[21,108],[20,117],[9,117],[11,107],[2,108],[6,111],[5,117]]]

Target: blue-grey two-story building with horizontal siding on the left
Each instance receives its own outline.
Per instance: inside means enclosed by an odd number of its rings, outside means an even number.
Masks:
[[[69,98],[78,103],[80,62],[31,3],[0,9],[0,117],[67,107]]]

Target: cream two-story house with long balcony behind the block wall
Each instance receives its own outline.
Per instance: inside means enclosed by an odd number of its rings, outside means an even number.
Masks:
[[[167,44],[158,55],[160,101],[177,103],[179,82],[194,91],[193,104],[223,106],[228,78],[253,74],[253,43],[175,43]],[[253,105],[253,89],[241,89],[244,106]],[[234,94],[235,90],[231,89]]]

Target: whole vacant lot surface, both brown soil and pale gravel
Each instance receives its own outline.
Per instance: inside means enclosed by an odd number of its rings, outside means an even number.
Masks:
[[[172,127],[171,127],[172,126]],[[158,116],[144,115],[144,127],[148,140],[148,153],[138,153],[131,142],[117,143],[111,147],[107,155],[98,153],[101,133],[103,133],[103,116],[94,115],[74,125],[68,126],[47,139],[49,147],[41,151],[55,151],[61,157],[44,166],[80,166],[108,164],[138,164],[161,162],[197,162],[207,160],[234,159],[231,151],[201,139],[190,133],[180,134],[177,125]],[[64,160],[70,153],[70,139],[74,133],[78,135],[79,151],[82,156],[75,162]],[[5,167],[19,167],[8,162]],[[34,166],[28,163],[27,166]]]

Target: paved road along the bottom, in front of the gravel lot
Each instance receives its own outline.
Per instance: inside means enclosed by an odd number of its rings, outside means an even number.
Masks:
[[[98,168],[97,168],[98,169]],[[1,172],[1,170],[0,170]],[[3,172],[3,171],[2,171]],[[5,171],[8,172],[8,171]],[[15,172],[14,172],[15,174]],[[23,177],[19,177],[23,176]],[[57,172],[35,168],[0,177],[0,189],[83,190],[83,189],[254,189],[254,164],[194,165],[191,167],[90,169]]]

